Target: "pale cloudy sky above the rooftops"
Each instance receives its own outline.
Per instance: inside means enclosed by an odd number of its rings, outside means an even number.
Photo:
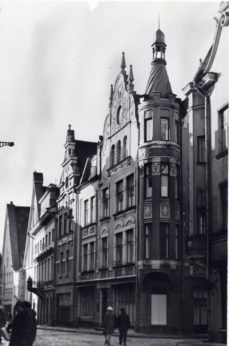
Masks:
[[[219,1],[0,2],[0,251],[6,204],[30,206],[33,172],[59,183],[68,124],[75,139],[97,142],[110,85],[133,66],[144,94],[153,36],[165,35],[173,93],[191,82],[213,43]]]

